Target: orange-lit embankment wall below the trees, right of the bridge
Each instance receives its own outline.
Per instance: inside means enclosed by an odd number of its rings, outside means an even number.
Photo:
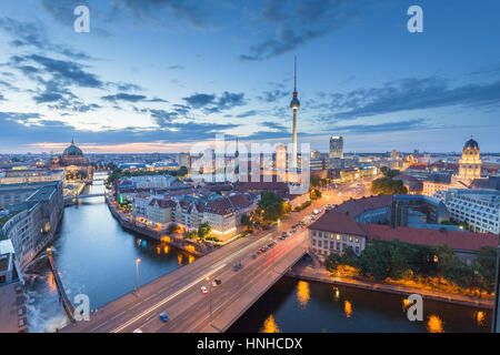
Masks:
[[[369,281],[361,281],[354,278],[336,277],[331,276],[331,274],[322,267],[311,267],[309,264],[306,265],[301,262],[299,262],[296,266],[293,266],[286,275],[289,277],[294,277],[303,281],[316,281],[338,286],[356,287],[403,296],[408,296],[411,294],[419,294],[422,296],[422,298],[453,303],[469,307],[478,307],[483,310],[493,308],[493,301],[491,300],[481,300],[470,297],[467,295],[450,294],[414,287],[404,287],[391,284],[373,283]]]

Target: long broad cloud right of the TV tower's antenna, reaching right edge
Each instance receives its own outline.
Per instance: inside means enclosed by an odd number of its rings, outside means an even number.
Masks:
[[[332,95],[329,109],[339,120],[371,116],[398,111],[451,105],[483,106],[500,104],[500,81],[450,87],[440,78],[409,78],[386,82],[380,88],[358,89]]]

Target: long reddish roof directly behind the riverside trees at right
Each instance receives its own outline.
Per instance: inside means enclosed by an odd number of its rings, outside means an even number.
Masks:
[[[498,246],[498,236],[494,234],[469,233],[456,231],[439,231],[413,229],[408,226],[391,227],[379,224],[360,224],[367,232],[369,240],[393,241],[399,240],[411,244],[439,245],[448,244],[453,250],[479,251],[481,246]]]

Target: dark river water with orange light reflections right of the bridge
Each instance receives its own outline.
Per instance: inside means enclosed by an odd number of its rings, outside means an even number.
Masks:
[[[404,297],[283,277],[229,332],[490,332],[491,311],[423,300],[423,322]]]

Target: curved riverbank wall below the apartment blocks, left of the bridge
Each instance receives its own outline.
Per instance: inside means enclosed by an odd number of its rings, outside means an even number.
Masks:
[[[177,248],[183,250],[187,253],[193,254],[196,256],[202,256],[209,253],[209,251],[204,250],[200,244],[191,243],[186,240],[181,240],[174,236],[170,236],[168,240],[162,239],[162,233],[159,231],[153,231],[147,227],[142,227],[139,225],[132,224],[130,221],[127,221],[120,216],[120,214],[114,210],[114,207],[111,205],[108,197],[106,197],[106,204],[108,205],[109,211],[111,212],[111,215],[120,223],[121,227],[126,231],[146,235],[150,239],[153,239],[156,241],[164,242],[169,245],[172,245]]]

